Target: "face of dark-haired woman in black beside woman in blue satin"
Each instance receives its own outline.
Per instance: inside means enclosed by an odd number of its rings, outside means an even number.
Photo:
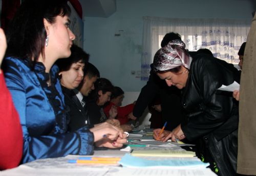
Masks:
[[[73,63],[68,71],[61,71],[60,83],[68,89],[75,89],[83,79],[84,63],[80,61]]]

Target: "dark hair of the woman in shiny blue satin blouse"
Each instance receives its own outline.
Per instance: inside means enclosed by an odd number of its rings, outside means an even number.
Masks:
[[[45,58],[44,18],[54,23],[56,16],[70,13],[67,0],[25,0],[9,23],[6,56],[27,59],[30,63],[36,62],[40,54]]]

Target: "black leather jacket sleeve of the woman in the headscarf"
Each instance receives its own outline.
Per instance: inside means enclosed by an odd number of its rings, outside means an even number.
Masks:
[[[188,122],[181,124],[181,129],[190,141],[221,127],[232,111],[232,95],[217,91],[222,84],[233,82],[232,72],[216,62],[203,59],[191,65],[188,87],[183,96],[183,107],[190,114]]]

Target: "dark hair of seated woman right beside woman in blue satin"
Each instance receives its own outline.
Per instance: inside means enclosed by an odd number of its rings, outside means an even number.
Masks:
[[[58,59],[55,62],[59,67],[59,71],[68,71],[73,63],[77,63],[80,60],[82,61],[82,63],[88,62],[90,55],[84,52],[82,48],[73,44],[70,50],[70,57]]]

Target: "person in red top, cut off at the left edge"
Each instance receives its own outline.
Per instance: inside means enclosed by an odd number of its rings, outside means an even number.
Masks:
[[[0,29],[0,67],[7,44],[5,33]],[[3,71],[0,70],[0,170],[18,166],[22,158],[23,135],[19,116],[6,87]]]

